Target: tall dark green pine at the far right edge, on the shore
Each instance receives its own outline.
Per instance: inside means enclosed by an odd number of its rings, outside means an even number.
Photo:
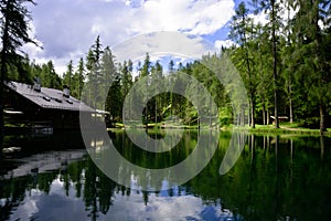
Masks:
[[[327,107],[331,98],[330,60],[328,61],[328,31],[330,29],[331,2],[328,0],[298,1],[295,17],[296,51],[293,57],[300,62],[300,74],[305,78],[308,101],[319,106],[320,131],[327,129]],[[306,73],[310,73],[309,75]]]

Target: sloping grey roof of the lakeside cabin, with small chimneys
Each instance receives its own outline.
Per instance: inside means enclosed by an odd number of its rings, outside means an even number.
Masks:
[[[36,92],[32,85],[18,82],[6,82],[6,85],[43,108],[94,112],[92,107],[79,99],[73,96],[65,97],[60,90],[41,87],[41,92]]]

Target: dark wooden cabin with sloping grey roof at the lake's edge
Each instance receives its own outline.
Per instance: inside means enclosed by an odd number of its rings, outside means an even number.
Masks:
[[[92,117],[95,110],[63,91],[34,85],[6,82],[4,116],[10,124],[54,129],[78,129],[79,112]]]

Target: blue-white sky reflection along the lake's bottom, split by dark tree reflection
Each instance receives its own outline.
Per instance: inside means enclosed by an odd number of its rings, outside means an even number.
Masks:
[[[167,182],[167,181],[164,181]],[[11,220],[87,220],[90,219],[83,198],[76,198],[74,183],[68,196],[60,178],[51,185],[49,194],[32,189],[24,201],[13,211]],[[223,210],[221,203],[207,204],[201,198],[179,192],[174,196],[148,193],[143,202],[143,192],[131,191],[130,196],[117,192],[114,204],[106,214],[99,213],[97,220],[234,220],[229,210]]]

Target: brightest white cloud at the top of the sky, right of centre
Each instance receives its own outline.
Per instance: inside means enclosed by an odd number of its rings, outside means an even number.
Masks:
[[[137,20],[129,24],[134,32],[185,31],[212,34],[233,15],[232,0],[154,0],[146,1],[132,13]]]

